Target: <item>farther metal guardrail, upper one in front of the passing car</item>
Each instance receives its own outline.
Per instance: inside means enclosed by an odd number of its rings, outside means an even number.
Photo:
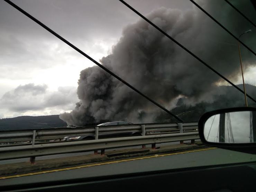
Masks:
[[[163,133],[177,133],[195,131],[198,128],[197,122],[170,123],[170,124],[141,124],[141,125],[119,125],[119,126],[98,126],[98,127],[76,127],[76,128],[51,128],[37,130],[10,130],[0,131],[0,143],[26,142],[39,143],[44,140],[62,139],[65,136],[94,136],[107,133],[134,132],[141,135],[153,135]],[[49,142],[49,141],[48,141]],[[4,146],[4,145],[0,145]]]

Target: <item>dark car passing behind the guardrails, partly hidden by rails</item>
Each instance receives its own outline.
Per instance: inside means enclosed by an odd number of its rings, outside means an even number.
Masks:
[[[97,126],[115,126],[115,125],[132,125],[130,122],[125,122],[125,121],[113,121],[113,122],[106,122],[99,124]],[[122,137],[122,136],[133,136],[133,135],[138,135],[138,133],[130,132],[130,131],[125,131],[125,132],[109,132],[109,133],[99,133],[99,138],[111,138],[111,137]],[[71,141],[71,140],[92,140],[95,138],[94,134],[91,135],[80,135],[80,136],[70,136],[70,137],[64,137],[62,141]]]

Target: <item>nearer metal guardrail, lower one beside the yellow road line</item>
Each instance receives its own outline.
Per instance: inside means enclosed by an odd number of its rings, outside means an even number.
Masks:
[[[93,150],[104,151],[104,149],[146,144],[152,144],[153,146],[158,143],[194,139],[199,139],[198,131],[176,134],[97,139],[89,141],[73,141],[53,144],[36,144],[28,146],[9,146],[0,148],[0,160],[32,157],[34,158],[33,161],[35,161],[35,157],[44,155],[86,152]],[[33,163],[33,161],[31,161],[31,163]]]

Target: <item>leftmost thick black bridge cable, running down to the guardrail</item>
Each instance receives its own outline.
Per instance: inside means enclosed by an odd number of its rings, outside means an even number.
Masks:
[[[90,57],[89,55],[87,55],[86,53],[84,53],[83,51],[81,51],[79,48],[77,48],[76,46],[74,46],[73,44],[71,44],[70,42],[68,42],[66,39],[64,39],[62,36],[58,35],[55,31],[53,31],[52,29],[50,29],[49,27],[47,27],[46,25],[44,25],[42,22],[40,22],[39,20],[37,20],[35,17],[31,16],[28,12],[26,12],[25,10],[21,9],[19,6],[17,6],[15,3],[11,2],[10,0],[4,0],[7,3],[9,3],[12,7],[14,7],[15,9],[17,9],[18,11],[22,12],[24,15],[26,15],[28,18],[32,19],[33,21],[35,21],[38,25],[42,26],[43,28],[45,28],[47,31],[49,31],[51,34],[53,34],[54,36],[56,36],[57,38],[59,38],[60,40],[62,40],[64,43],[66,43],[67,45],[69,45],[70,47],[72,47],[73,49],[75,49],[77,52],[79,52],[80,54],[82,54],[83,56],[85,56],[86,58],[88,58],[90,61],[92,61],[93,63],[95,63],[96,65],[98,65],[99,67],[101,67],[104,71],[108,72],[110,75],[114,76],[116,79],[118,79],[119,81],[121,81],[122,83],[124,83],[125,85],[127,85],[129,88],[131,88],[132,90],[136,91],[137,93],[139,93],[141,96],[143,96],[144,98],[146,98],[147,100],[149,100],[150,102],[154,103],[157,107],[161,108],[162,110],[164,110],[165,112],[167,112],[168,114],[170,114],[171,116],[173,116],[174,118],[176,118],[178,121],[183,122],[182,119],[180,119],[179,117],[177,117],[176,115],[174,115],[172,112],[170,112],[169,110],[167,110],[166,108],[164,108],[163,106],[161,106],[160,104],[158,104],[157,102],[155,102],[153,99],[150,99],[147,95],[143,94],[142,92],[140,92],[139,90],[137,90],[136,88],[134,88],[134,86],[130,85],[129,83],[127,83],[125,80],[121,79],[121,77],[119,77],[118,75],[116,75],[115,73],[113,73],[112,71],[110,71],[108,68],[104,67],[103,65],[101,65],[100,63],[98,63],[97,61],[95,61],[92,57]]]

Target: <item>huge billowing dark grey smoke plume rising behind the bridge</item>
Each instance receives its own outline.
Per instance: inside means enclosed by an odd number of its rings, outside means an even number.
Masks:
[[[220,12],[218,20],[236,36],[250,27],[224,1],[214,6],[203,4],[203,8],[210,13],[213,10]],[[150,12],[147,18],[221,74],[237,80],[240,68],[236,40],[198,8],[184,12],[162,7]],[[248,42],[252,41],[248,39]],[[253,59],[252,54],[243,51],[245,68],[252,64]],[[179,97],[188,98],[191,104],[214,100],[212,92],[222,81],[142,19],[123,30],[112,54],[100,62],[167,109],[172,109]],[[104,120],[153,122],[159,112],[154,104],[98,66],[81,71],[77,95],[80,102],[76,103],[75,109],[60,115],[68,125],[83,126]]]

